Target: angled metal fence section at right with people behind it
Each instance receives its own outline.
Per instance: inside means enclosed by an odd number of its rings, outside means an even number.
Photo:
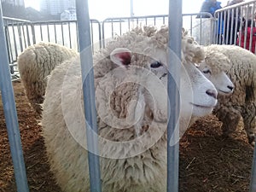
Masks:
[[[236,44],[255,54],[256,1],[237,3],[218,9],[214,15],[213,44]]]

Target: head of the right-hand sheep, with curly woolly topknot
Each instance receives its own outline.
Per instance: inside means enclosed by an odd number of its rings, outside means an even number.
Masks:
[[[199,64],[201,72],[209,79],[221,95],[230,95],[235,85],[227,76],[230,59],[216,50],[206,48],[206,58]]]

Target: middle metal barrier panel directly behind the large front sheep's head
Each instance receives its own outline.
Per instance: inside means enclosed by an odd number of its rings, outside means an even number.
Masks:
[[[201,15],[207,15],[208,20],[212,20],[209,13],[183,14],[183,27],[187,29],[191,36],[200,44],[211,44],[212,30],[207,35],[203,35],[202,30],[206,25],[206,20],[201,20]],[[108,39],[115,35],[122,35],[124,32],[130,32],[136,26],[163,26],[168,25],[168,15],[147,15],[134,17],[107,18],[102,21],[102,46],[108,42]],[[212,25],[211,25],[212,28]]]

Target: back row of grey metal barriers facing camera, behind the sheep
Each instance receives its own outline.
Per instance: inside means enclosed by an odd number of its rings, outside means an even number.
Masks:
[[[183,14],[183,26],[200,44],[211,44],[212,30],[209,30],[209,33],[202,32],[207,25],[207,21],[198,19],[198,15],[208,15],[209,20],[212,20],[212,15],[208,13]],[[167,24],[168,15],[108,18],[102,22],[90,20],[92,51],[94,53],[104,47],[108,39],[129,32],[136,26],[162,26]],[[62,44],[71,49],[79,49],[76,20],[29,21],[4,17],[3,26],[12,79],[19,79],[18,55],[32,44],[44,41]]]

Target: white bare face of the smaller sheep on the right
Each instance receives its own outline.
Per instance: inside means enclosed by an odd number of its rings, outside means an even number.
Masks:
[[[212,70],[212,67],[207,65],[207,61],[201,62],[198,68],[201,73],[214,84],[215,88],[218,90],[218,94],[230,95],[233,92],[235,85],[224,71],[221,69]]]

